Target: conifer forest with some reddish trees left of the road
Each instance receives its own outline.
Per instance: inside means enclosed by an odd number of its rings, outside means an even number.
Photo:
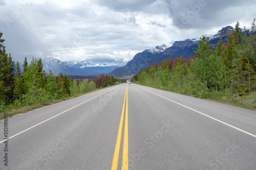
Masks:
[[[58,77],[54,77],[51,70],[47,75],[40,58],[28,63],[25,57],[24,70],[21,72],[20,63],[12,61],[11,54],[7,54],[2,35],[0,32],[0,112],[69,98],[120,81],[110,75],[69,80],[61,72]]]

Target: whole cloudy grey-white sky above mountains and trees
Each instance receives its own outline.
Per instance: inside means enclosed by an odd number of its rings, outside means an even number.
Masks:
[[[15,61],[118,62],[175,40],[251,27],[256,0],[0,0],[0,32]]]

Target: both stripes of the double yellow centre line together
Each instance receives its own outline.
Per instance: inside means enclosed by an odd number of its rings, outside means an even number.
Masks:
[[[119,124],[119,129],[118,129],[118,134],[117,134],[117,139],[116,139],[115,153],[114,153],[112,168],[111,168],[112,170],[116,170],[117,165],[118,165],[119,150],[120,150],[122,128],[123,128],[124,108],[125,108],[125,123],[124,123],[124,136],[123,136],[122,170],[128,169],[128,100],[127,99],[128,99],[128,88],[127,88],[127,84],[126,84],[124,100],[123,100],[122,115],[121,115],[121,120],[120,120],[120,124]],[[126,107],[125,107],[125,100],[126,100]]]

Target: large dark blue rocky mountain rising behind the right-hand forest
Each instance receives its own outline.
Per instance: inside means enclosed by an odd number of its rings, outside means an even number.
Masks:
[[[220,38],[222,37],[225,40],[227,32],[232,30],[233,28],[231,26],[227,26],[215,35],[204,34],[197,39],[185,39],[175,41],[174,44],[168,43],[156,46],[155,48],[136,54],[125,66],[114,69],[110,74],[115,77],[132,76],[137,74],[141,69],[145,69],[151,64],[167,60],[168,58],[175,59],[181,56],[184,58],[193,57],[195,55],[194,50],[197,49],[197,44],[201,37],[205,36],[207,41],[210,42],[210,45],[217,45]]]

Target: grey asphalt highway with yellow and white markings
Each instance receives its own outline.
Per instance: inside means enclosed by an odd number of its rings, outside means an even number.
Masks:
[[[255,111],[136,84],[7,120],[0,169],[256,169]]]

